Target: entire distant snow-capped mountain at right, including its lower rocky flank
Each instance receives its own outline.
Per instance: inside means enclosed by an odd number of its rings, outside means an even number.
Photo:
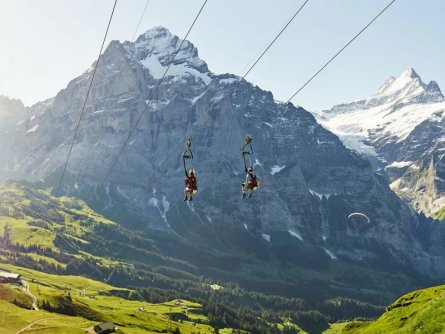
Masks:
[[[437,214],[445,204],[442,175],[445,99],[435,81],[409,69],[389,78],[370,98],[317,113],[346,146],[377,157],[391,188],[417,211]]]

